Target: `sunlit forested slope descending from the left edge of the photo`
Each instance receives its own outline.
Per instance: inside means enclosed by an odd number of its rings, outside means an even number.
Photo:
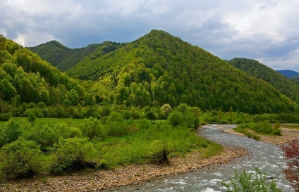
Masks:
[[[58,105],[68,99],[77,105],[84,96],[85,89],[77,80],[0,36],[0,102]]]

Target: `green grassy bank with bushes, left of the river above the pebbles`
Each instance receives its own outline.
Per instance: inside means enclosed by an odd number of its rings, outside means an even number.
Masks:
[[[92,117],[1,122],[1,177],[18,179],[86,168],[159,164],[194,151],[208,158],[223,150],[195,136],[193,129],[172,126],[166,120],[152,124],[150,120],[123,120],[114,113],[102,123]]]

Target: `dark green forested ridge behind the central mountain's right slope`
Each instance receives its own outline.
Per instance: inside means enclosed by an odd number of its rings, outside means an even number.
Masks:
[[[228,63],[247,72],[249,75],[263,79],[288,98],[299,103],[299,82],[281,75],[257,60],[247,58],[234,58]]]

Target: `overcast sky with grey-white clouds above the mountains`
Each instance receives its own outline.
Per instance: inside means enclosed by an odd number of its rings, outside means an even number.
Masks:
[[[0,0],[0,34],[23,46],[130,42],[153,29],[219,58],[299,72],[298,0]]]

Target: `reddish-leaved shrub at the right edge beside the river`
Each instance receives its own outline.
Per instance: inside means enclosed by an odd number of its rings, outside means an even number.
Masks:
[[[296,192],[299,191],[299,139],[283,144],[281,149],[284,158],[287,160],[286,168],[283,169],[286,179],[291,182],[291,186]]]

